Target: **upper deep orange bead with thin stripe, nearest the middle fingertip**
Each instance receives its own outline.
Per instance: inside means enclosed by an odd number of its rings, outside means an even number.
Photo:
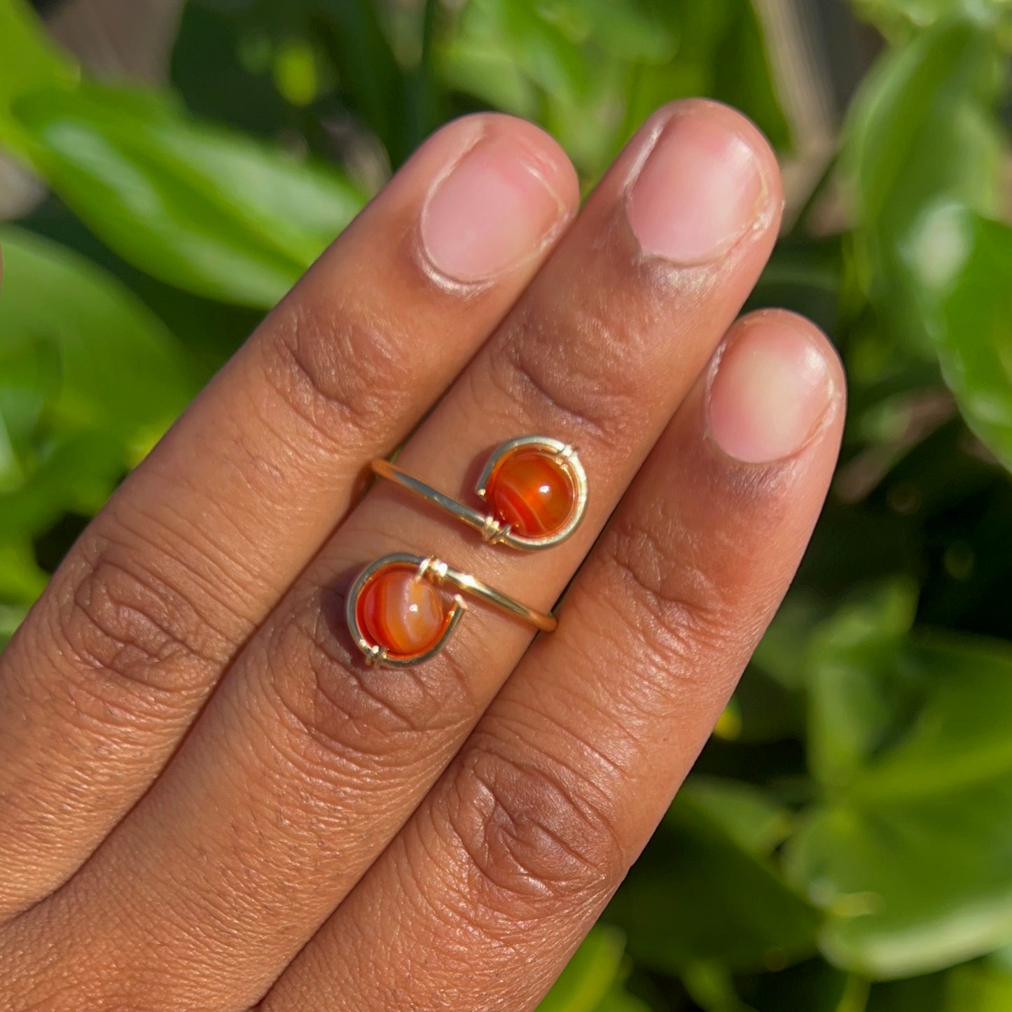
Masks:
[[[510,453],[489,481],[488,500],[496,517],[521,537],[552,537],[569,522],[576,487],[566,467],[544,450]]]

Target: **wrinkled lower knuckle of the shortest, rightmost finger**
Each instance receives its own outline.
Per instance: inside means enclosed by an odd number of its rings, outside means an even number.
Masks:
[[[467,865],[470,916],[485,928],[592,903],[627,867],[608,789],[542,751],[478,740],[446,811]]]

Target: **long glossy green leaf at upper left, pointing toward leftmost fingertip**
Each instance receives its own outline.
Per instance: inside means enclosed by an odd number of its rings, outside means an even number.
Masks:
[[[95,235],[153,276],[224,302],[273,306],[363,202],[338,171],[158,95],[47,90],[15,112],[36,170]]]

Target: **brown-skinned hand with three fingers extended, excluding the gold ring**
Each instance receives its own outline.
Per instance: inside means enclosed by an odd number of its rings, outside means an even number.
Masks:
[[[0,1007],[529,1009],[722,711],[805,549],[844,382],[809,323],[735,323],[776,163],[732,110],[656,113],[577,217],[532,125],[431,138],[122,485],[0,659]],[[435,405],[435,407],[433,407]],[[429,413],[431,412],[431,413]],[[429,414],[427,414],[429,413]],[[424,421],[422,419],[424,418]],[[491,448],[579,447],[523,554],[467,498]],[[354,575],[434,554],[476,606],[367,668]]]

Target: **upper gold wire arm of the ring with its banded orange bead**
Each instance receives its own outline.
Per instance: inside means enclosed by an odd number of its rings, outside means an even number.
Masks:
[[[568,443],[549,436],[521,436],[497,449],[478,479],[476,494],[489,511],[457,502],[402,471],[373,460],[373,474],[413,492],[462,523],[490,544],[533,551],[565,541],[587,510],[587,475]]]

